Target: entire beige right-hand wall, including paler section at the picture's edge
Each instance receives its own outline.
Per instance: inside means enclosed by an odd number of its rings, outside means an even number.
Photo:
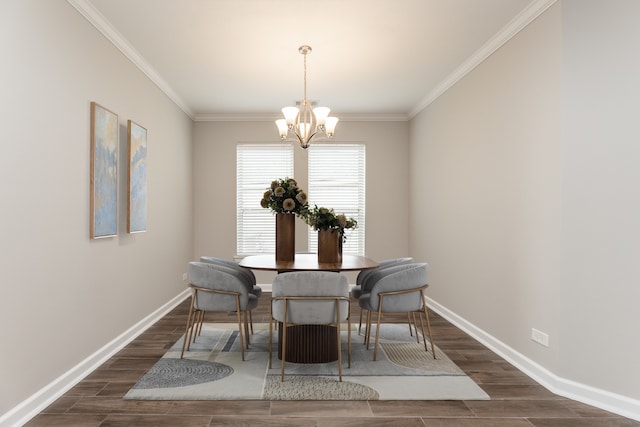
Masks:
[[[638,16],[558,2],[410,124],[430,296],[603,400],[640,398]]]

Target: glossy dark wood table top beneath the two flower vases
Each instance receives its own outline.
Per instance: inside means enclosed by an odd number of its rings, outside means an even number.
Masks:
[[[296,254],[293,261],[276,261],[274,254],[249,255],[240,265],[270,271],[356,271],[378,267],[374,260],[358,255],[343,255],[341,263],[319,263],[317,254]]]

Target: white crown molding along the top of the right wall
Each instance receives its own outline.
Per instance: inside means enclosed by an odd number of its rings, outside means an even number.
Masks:
[[[523,28],[529,25],[534,19],[540,16],[545,10],[551,7],[557,0],[536,0],[527,6],[518,16],[513,18],[502,30],[496,33],[487,43],[476,51],[469,59],[462,63],[438,84],[429,94],[408,114],[409,119],[414,118],[418,113],[429,106],[440,95],[469,74],[474,68],[480,65],[493,52],[498,50],[503,44],[518,34]]]

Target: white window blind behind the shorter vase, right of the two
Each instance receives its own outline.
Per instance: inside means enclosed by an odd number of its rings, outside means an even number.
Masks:
[[[312,144],[309,147],[309,207],[333,208],[355,218],[358,227],[345,231],[343,253],[364,255],[365,145]],[[318,249],[318,233],[309,227],[309,251]]]

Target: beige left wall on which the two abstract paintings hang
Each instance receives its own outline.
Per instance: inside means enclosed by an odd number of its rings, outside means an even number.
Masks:
[[[0,13],[0,415],[184,290],[191,120],[65,1]],[[119,233],[89,239],[89,116],[120,120]],[[148,130],[148,232],[127,235],[126,121]]]

